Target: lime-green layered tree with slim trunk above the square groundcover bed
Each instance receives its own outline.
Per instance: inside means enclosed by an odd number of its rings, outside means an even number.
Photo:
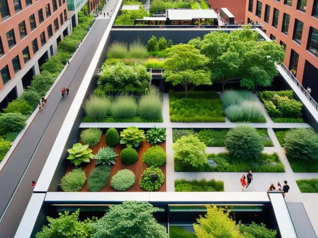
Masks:
[[[210,72],[204,70],[208,59],[200,54],[193,45],[178,44],[171,47],[168,58],[164,61],[162,77],[172,85],[181,84],[185,88],[185,97],[188,98],[188,84],[211,85]],[[190,89],[189,91],[191,91]]]

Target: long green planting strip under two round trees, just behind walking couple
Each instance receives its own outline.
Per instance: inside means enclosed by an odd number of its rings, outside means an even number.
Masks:
[[[193,167],[181,164],[175,160],[175,172],[267,172],[283,173],[285,168],[276,153],[267,155],[263,153],[259,161],[249,162],[226,153],[208,155],[208,163],[204,167]]]

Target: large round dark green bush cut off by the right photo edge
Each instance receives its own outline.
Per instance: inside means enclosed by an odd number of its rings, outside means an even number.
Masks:
[[[285,136],[286,154],[299,160],[318,160],[318,134],[312,128],[290,129]]]

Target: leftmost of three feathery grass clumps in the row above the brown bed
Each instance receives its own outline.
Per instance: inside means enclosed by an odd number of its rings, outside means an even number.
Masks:
[[[92,94],[84,104],[86,116],[90,119],[102,120],[110,111],[111,101],[106,96]]]

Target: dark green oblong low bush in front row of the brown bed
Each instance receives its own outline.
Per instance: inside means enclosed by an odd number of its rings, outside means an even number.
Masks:
[[[108,164],[99,164],[88,176],[88,190],[99,192],[108,182],[112,167]]]

